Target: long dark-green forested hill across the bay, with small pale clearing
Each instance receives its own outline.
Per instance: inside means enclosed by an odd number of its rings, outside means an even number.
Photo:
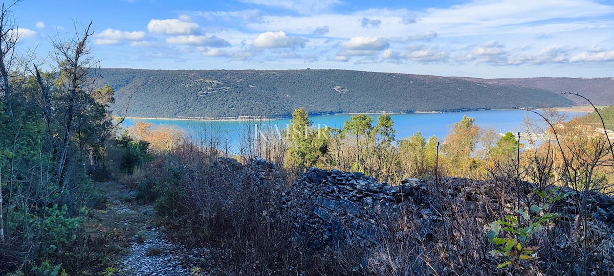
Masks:
[[[287,117],[311,114],[456,111],[573,104],[551,91],[483,79],[348,70],[101,69],[116,113],[130,117]]]

